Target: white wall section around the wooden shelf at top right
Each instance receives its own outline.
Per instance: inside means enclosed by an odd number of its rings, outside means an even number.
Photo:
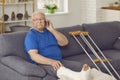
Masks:
[[[109,6],[116,1],[118,0],[97,0],[97,22],[120,20],[120,11],[101,9],[101,7]]]

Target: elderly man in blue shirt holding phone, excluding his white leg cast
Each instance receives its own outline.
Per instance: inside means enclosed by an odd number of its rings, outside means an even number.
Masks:
[[[57,77],[57,70],[65,66],[80,71],[81,63],[62,59],[59,46],[68,44],[68,39],[57,31],[42,12],[32,14],[33,27],[25,38],[25,50],[30,62],[42,66],[49,75]]]

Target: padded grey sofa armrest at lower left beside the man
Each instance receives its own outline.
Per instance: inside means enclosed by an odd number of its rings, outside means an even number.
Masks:
[[[1,63],[25,76],[44,77],[46,75],[42,67],[31,64],[17,56],[3,57]]]

